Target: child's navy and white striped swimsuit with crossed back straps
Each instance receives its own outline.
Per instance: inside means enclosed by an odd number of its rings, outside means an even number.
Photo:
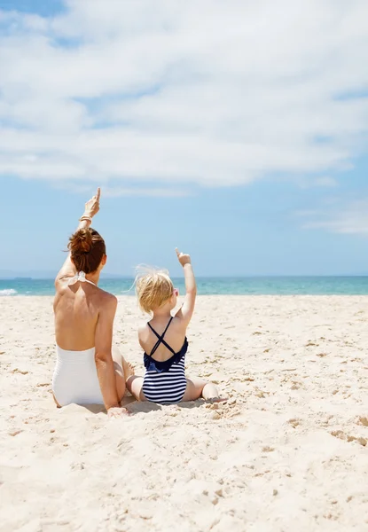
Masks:
[[[143,379],[142,391],[145,394],[145,398],[153,403],[180,403],[184,397],[186,389],[184,364],[185,355],[188,350],[188,340],[185,338],[183,347],[178,353],[176,353],[164,340],[164,336],[168,331],[168,327],[172,320],[173,317],[171,317],[161,336],[150,324],[148,324],[151,331],[154,332],[159,340],[157,340],[153,346],[151,355],[145,353],[145,377]],[[159,362],[153,358],[155,351],[159,348],[161,343],[173,354],[173,356],[168,360],[165,360],[165,362]]]

